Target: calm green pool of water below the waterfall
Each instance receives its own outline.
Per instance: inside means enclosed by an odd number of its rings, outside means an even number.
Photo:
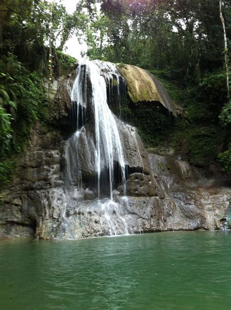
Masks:
[[[231,310],[231,232],[1,241],[0,310]]]

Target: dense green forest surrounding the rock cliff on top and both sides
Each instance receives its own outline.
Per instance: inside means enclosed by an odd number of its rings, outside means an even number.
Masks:
[[[87,43],[82,56],[148,69],[168,89],[182,111],[177,118],[146,103],[122,105],[121,117],[137,126],[147,147],[184,149],[191,164],[231,173],[228,0],[80,0],[73,14],[61,1],[2,0],[1,188],[33,124],[55,126],[43,80],[76,62],[63,53],[73,35]]]

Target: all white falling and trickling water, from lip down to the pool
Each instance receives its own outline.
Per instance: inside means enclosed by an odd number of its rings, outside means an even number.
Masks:
[[[124,150],[117,127],[117,119],[108,106],[108,100],[110,101],[113,91],[113,80],[116,80],[116,95],[120,104],[120,84],[123,89],[125,82],[118,73],[116,66],[99,61],[83,61],[79,63],[71,94],[72,116],[76,132],[67,141],[65,152],[66,173],[64,187],[66,198],[69,200],[67,206],[69,210],[75,208],[78,208],[78,210],[79,208],[81,210],[84,208],[85,210],[89,210],[88,208],[96,210],[94,212],[100,215],[100,219],[96,222],[99,221],[101,227],[106,226],[105,232],[102,233],[106,235],[133,233],[133,229],[129,228],[127,224],[127,220],[131,221],[131,215],[126,198]],[[107,85],[110,92],[109,99]],[[89,118],[91,117],[93,120],[89,125]],[[91,165],[95,169],[96,176],[93,187],[96,188],[97,194],[95,199],[91,198],[90,200],[88,199],[89,193],[94,190],[85,188],[85,194],[82,190],[84,151],[80,147],[80,141],[83,136],[87,141],[85,143],[85,152],[89,151],[89,160],[92,161]],[[116,169],[119,171],[119,177],[117,174],[115,175]],[[116,177],[122,185],[123,197],[119,201],[114,199]],[[106,191],[105,188],[108,190]],[[105,197],[106,192],[108,192],[107,197]],[[84,197],[86,193],[88,193],[87,199]],[[73,234],[69,231],[69,235]]]

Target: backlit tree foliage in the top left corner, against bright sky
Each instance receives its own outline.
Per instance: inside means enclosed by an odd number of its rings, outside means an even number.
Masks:
[[[87,19],[81,8],[70,15],[56,1],[1,0],[0,57],[10,52],[29,70],[48,73],[47,45],[61,51],[72,35],[81,38]]]

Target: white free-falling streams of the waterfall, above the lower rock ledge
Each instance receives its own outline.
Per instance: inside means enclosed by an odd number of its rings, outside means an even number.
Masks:
[[[88,79],[90,84],[88,83]],[[78,158],[78,138],[79,127],[84,126],[87,119],[88,110],[88,91],[91,88],[91,109],[94,112],[94,125],[95,125],[95,168],[97,176],[97,195],[100,199],[101,191],[101,177],[106,170],[107,180],[109,183],[110,199],[113,200],[114,190],[114,168],[117,164],[119,171],[121,172],[121,179],[123,185],[123,195],[126,195],[126,178],[125,178],[125,159],[123,148],[119,136],[119,131],[116,125],[116,118],[112,111],[109,109],[107,100],[107,87],[108,82],[109,91],[112,92],[111,85],[113,79],[116,80],[117,96],[120,104],[120,81],[124,87],[124,80],[117,72],[115,65],[110,63],[104,63],[100,61],[82,61],[77,68],[77,76],[73,85],[71,100],[72,111],[75,119],[76,133],[70,139],[69,142],[69,156],[71,158],[72,167],[68,168],[73,171],[73,158]],[[73,154],[76,152],[76,155]],[[79,164],[75,166],[78,170],[81,170]],[[67,170],[68,170],[67,169]],[[71,173],[68,172],[70,179]]]

